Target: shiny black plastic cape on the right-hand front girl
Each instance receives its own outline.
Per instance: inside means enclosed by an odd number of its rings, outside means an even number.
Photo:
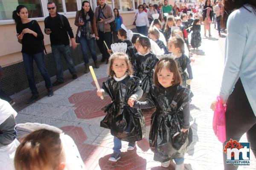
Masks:
[[[154,152],[154,161],[165,162],[183,157],[192,143],[188,94],[189,90],[181,85],[169,88],[156,88],[154,85],[151,87],[148,99],[154,102],[156,111],[151,116],[149,144]],[[183,121],[184,107],[188,107],[187,125]],[[183,133],[182,127],[189,130]]]

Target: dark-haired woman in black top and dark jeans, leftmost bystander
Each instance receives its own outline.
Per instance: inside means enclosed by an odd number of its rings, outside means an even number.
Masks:
[[[19,5],[12,13],[12,18],[16,23],[16,31],[18,42],[22,44],[22,57],[26,68],[26,74],[29,81],[29,88],[32,97],[27,101],[33,102],[39,97],[38,90],[35,85],[35,77],[33,70],[33,61],[35,60],[41,75],[44,77],[45,86],[48,96],[53,96],[51,79],[47,73],[44,63],[44,35],[36,20],[28,19],[28,10],[26,6]]]

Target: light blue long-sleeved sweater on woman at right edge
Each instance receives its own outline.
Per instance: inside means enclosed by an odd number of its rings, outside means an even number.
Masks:
[[[225,66],[221,99],[227,100],[237,80],[241,79],[246,96],[256,116],[256,14],[249,5],[233,11],[227,20]]]

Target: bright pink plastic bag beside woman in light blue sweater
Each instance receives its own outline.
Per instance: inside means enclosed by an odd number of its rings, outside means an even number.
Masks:
[[[212,120],[212,128],[215,133],[215,136],[218,137],[218,140],[221,143],[224,143],[226,141],[226,104],[222,104],[220,96],[217,96],[216,99],[216,108],[213,115]]]

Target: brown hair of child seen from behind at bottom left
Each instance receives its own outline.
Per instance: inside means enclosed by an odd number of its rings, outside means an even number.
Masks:
[[[65,161],[60,134],[41,129],[29,133],[17,147],[14,164],[16,170],[55,170]]]

